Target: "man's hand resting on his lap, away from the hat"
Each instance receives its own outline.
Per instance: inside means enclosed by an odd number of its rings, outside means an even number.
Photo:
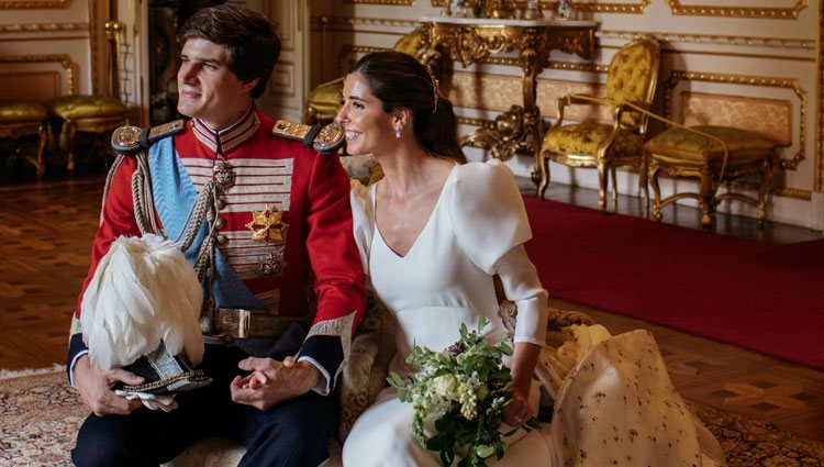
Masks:
[[[309,362],[281,363],[271,358],[249,357],[237,364],[245,371],[230,385],[232,400],[267,410],[280,402],[303,396],[318,385],[321,371]]]

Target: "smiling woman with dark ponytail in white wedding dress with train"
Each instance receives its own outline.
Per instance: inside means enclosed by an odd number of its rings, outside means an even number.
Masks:
[[[368,54],[346,77],[344,125],[349,154],[372,154],[385,178],[353,184],[354,231],[367,283],[398,323],[390,370],[409,374],[414,345],[445,348],[465,323],[489,320],[494,343],[506,331],[493,276],[517,307],[509,362],[513,400],[504,421],[537,412],[533,374],[547,327],[547,292],[524,249],[531,238],[512,173],[500,162],[465,163],[452,103],[412,57]],[[563,245],[558,245],[563,247]],[[578,326],[549,364],[557,377],[553,422],[508,440],[506,466],[723,465],[717,443],[690,414],[652,336],[612,337]],[[357,420],[343,451],[345,466],[438,466],[412,435],[413,409],[387,388]]]

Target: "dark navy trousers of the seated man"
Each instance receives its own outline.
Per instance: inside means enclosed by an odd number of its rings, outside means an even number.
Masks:
[[[71,460],[77,466],[157,466],[198,440],[222,434],[246,447],[241,466],[315,467],[329,457],[337,425],[337,394],[314,391],[269,410],[232,402],[229,382],[246,354],[207,345],[200,366],[214,381],[181,392],[171,412],[141,408],[129,415],[89,415]]]

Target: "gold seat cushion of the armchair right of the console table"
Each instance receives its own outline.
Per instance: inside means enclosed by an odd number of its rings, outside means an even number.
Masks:
[[[612,125],[597,122],[583,122],[565,125],[547,133],[544,137],[542,151],[561,154],[581,154],[592,158],[598,148],[612,133]],[[619,136],[610,153],[613,157],[624,157],[641,154],[644,151],[644,140],[630,131],[619,131]]]

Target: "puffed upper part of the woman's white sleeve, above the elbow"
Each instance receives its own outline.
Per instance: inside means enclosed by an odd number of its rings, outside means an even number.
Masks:
[[[515,177],[500,160],[457,167],[449,193],[453,229],[469,258],[485,273],[515,245],[532,238]]]

